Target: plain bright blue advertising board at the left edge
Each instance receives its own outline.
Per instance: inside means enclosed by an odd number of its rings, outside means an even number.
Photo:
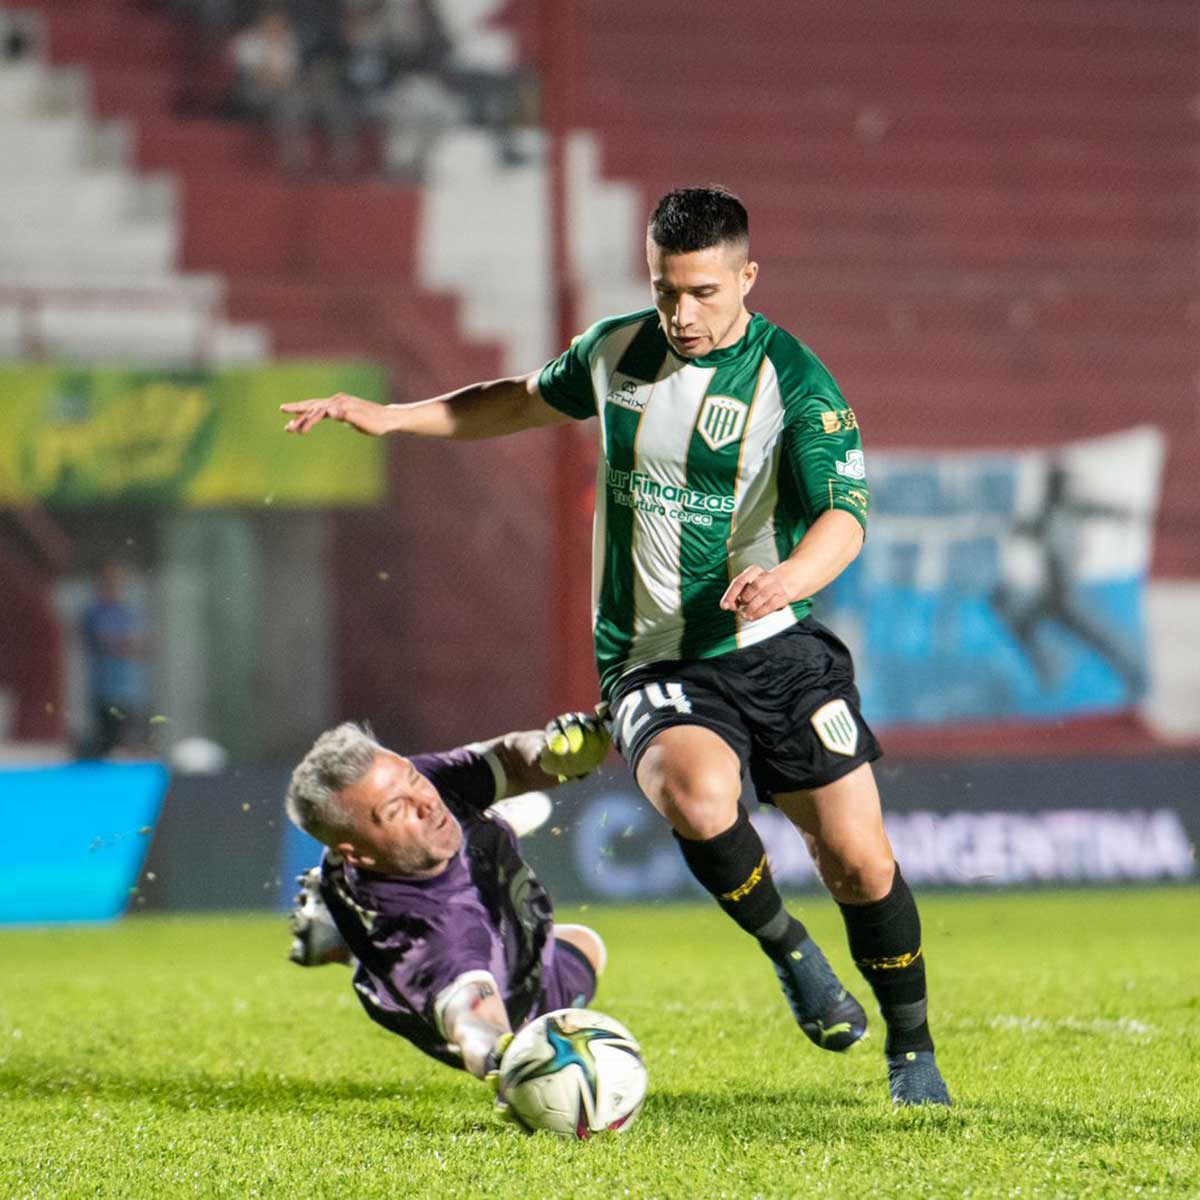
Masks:
[[[152,762],[0,769],[0,821],[12,847],[0,924],[110,920],[125,912],[167,780]]]

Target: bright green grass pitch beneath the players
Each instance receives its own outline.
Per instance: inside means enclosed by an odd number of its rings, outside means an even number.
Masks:
[[[792,906],[857,979],[833,905]],[[4,931],[0,1196],[1200,1196],[1196,893],[923,914],[949,1112],[890,1111],[877,1022],[809,1045],[715,907],[562,912],[650,1072],[634,1129],[578,1144],[496,1123],[344,968],[283,961],[280,918]]]

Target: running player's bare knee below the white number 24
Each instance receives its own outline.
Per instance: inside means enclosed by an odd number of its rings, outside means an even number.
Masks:
[[[742,762],[712,730],[672,725],[642,752],[637,786],[680,838],[702,841],[737,820]]]

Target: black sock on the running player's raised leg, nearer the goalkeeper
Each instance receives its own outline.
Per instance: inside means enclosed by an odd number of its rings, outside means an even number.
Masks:
[[[691,874],[772,958],[790,954],[809,936],[784,907],[762,839],[744,805],[738,804],[738,818],[725,833],[706,841],[676,834],[676,840]]]

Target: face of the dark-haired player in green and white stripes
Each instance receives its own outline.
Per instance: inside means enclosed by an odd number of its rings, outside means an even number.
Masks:
[[[732,346],[750,314],[745,298],[758,274],[743,242],[720,242],[686,254],[646,240],[650,288],[659,322],[680,358],[698,359]]]

